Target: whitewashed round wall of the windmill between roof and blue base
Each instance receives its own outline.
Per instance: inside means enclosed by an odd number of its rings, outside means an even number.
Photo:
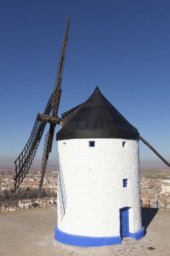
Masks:
[[[95,147],[90,148],[89,141],[95,141]],[[122,141],[127,141],[125,148]],[[62,232],[120,236],[122,207],[131,207],[129,231],[142,228],[138,140],[63,140],[58,141],[58,155],[67,202],[64,216],[58,206],[57,225]],[[129,179],[129,187],[123,188],[123,179]]]

